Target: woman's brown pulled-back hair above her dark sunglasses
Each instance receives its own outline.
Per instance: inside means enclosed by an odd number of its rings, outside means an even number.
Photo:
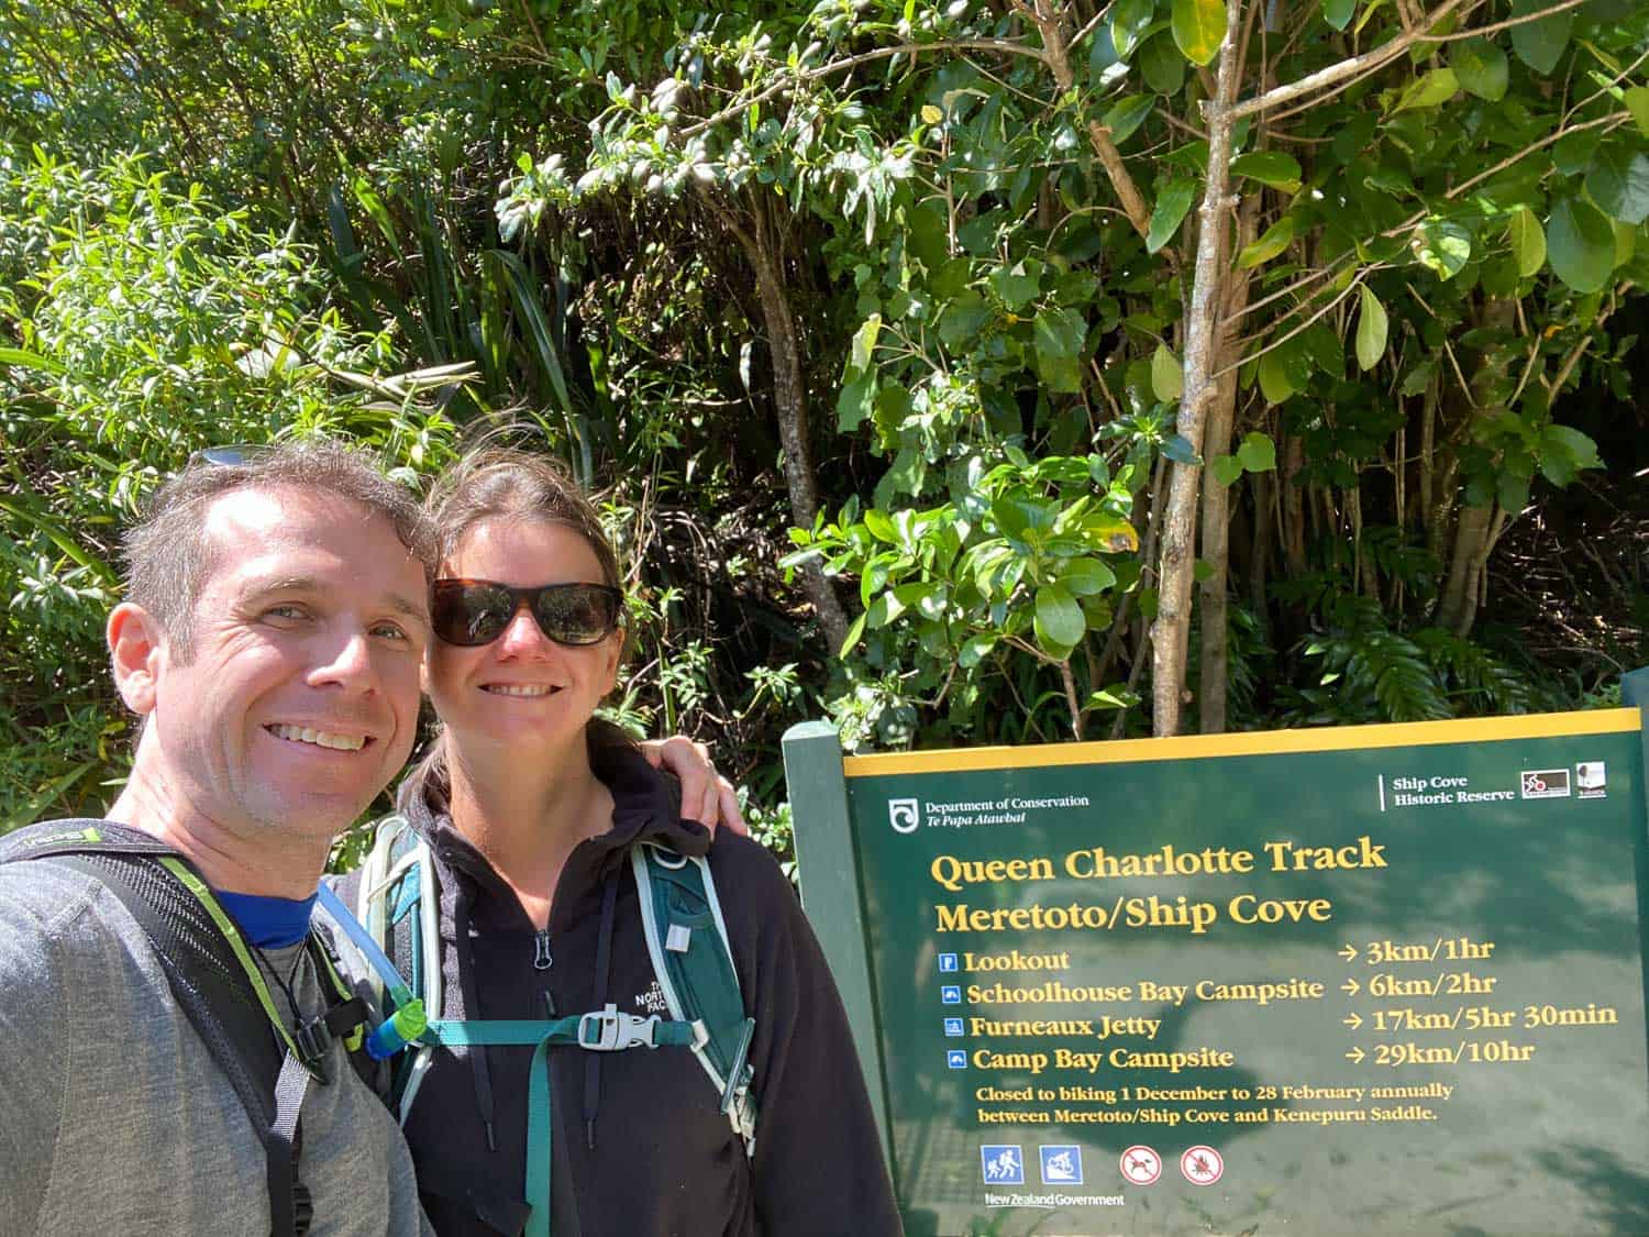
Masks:
[[[547,455],[513,447],[470,450],[435,478],[424,501],[424,511],[435,533],[437,574],[458,553],[463,538],[480,524],[495,521],[552,524],[571,528],[584,539],[600,564],[604,584],[623,587],[618,554],[607,539],[595,503],[567,470]],[[600,719],[590,719],[589,739],[599,745],[630,742],[623,731]],[[445,798],[452,783],[447,742],[445,731],[437,731],[429,752],[401,782],[396,803],[402,810],[411,802],[424,798],[429,790]]]

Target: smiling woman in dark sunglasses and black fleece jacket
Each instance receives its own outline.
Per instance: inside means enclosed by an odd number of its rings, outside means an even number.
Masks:
[[[547,460],[511,452],[460,463],[430,510],[442,566],[425,688],[444,729],[399,797],[440,889],[430,1013],[526,1023],[613,1004],[668,1019],[630,853],[707,853],[760,1110],[747,1156],[688,1047],[549,1047],[546,1229],[528,1158],[534,1046],[444,1039],[402,1108],[435,1229],[899,1232],[841,1001],[788,882],[747,838],[711,849],[671,783],[594,717],[623,651],[595,510]]]

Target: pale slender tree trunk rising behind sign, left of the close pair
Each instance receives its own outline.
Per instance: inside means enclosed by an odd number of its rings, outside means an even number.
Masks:
[[[1237,28],[1242,5],[1225,15],[1225,41],[1215,76],[1214,101],[1204,107],[1209,125],[1209,178],[1197,211],[1197,264],[1186,312],[1186,383],[1179,402],[1177,432],[1196,452],[1202,450],[1202,419],[1219,397],[1214,366],[1220,356],[1219,315],[1230,274],[1222,256],[1230,198],[1232,117],[1237,101]],[[1196,572],[1197,493],[1200,465],[1176,463],[1163,518],[1163,557],[1158,569],[1158,610],[1151,628],[1151,731],[1179,734],[1186,691],[1186,645],[1191,635],[1191,586]]]

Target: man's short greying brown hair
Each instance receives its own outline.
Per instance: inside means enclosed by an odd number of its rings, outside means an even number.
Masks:
[[[435,538],[417,496],[364,452],[325,439],[201,452],[155,492],[124,539],[125,599],[155,617],[180,660],[193,656],[195,602],[216,566],[203,536],[208,510],[226,493],[270,488],[346,498],[381,515],[424,566],[425,582],[435,577]]]

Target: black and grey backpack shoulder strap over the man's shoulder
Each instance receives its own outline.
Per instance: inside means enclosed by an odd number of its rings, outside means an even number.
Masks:
[[[308,1191],[297,1181],[297,1118],[308,1072],[297,1057],[282,1052],[213,917],[162,863],[181,863],[181,856],[147,833],[94,820],[51,821],[0,843],[0,863],[41,859],[96,877],[142,927],[173,999],[229,1079],[264,1143],[272,1237],[302,1237],[313,1219]]]

